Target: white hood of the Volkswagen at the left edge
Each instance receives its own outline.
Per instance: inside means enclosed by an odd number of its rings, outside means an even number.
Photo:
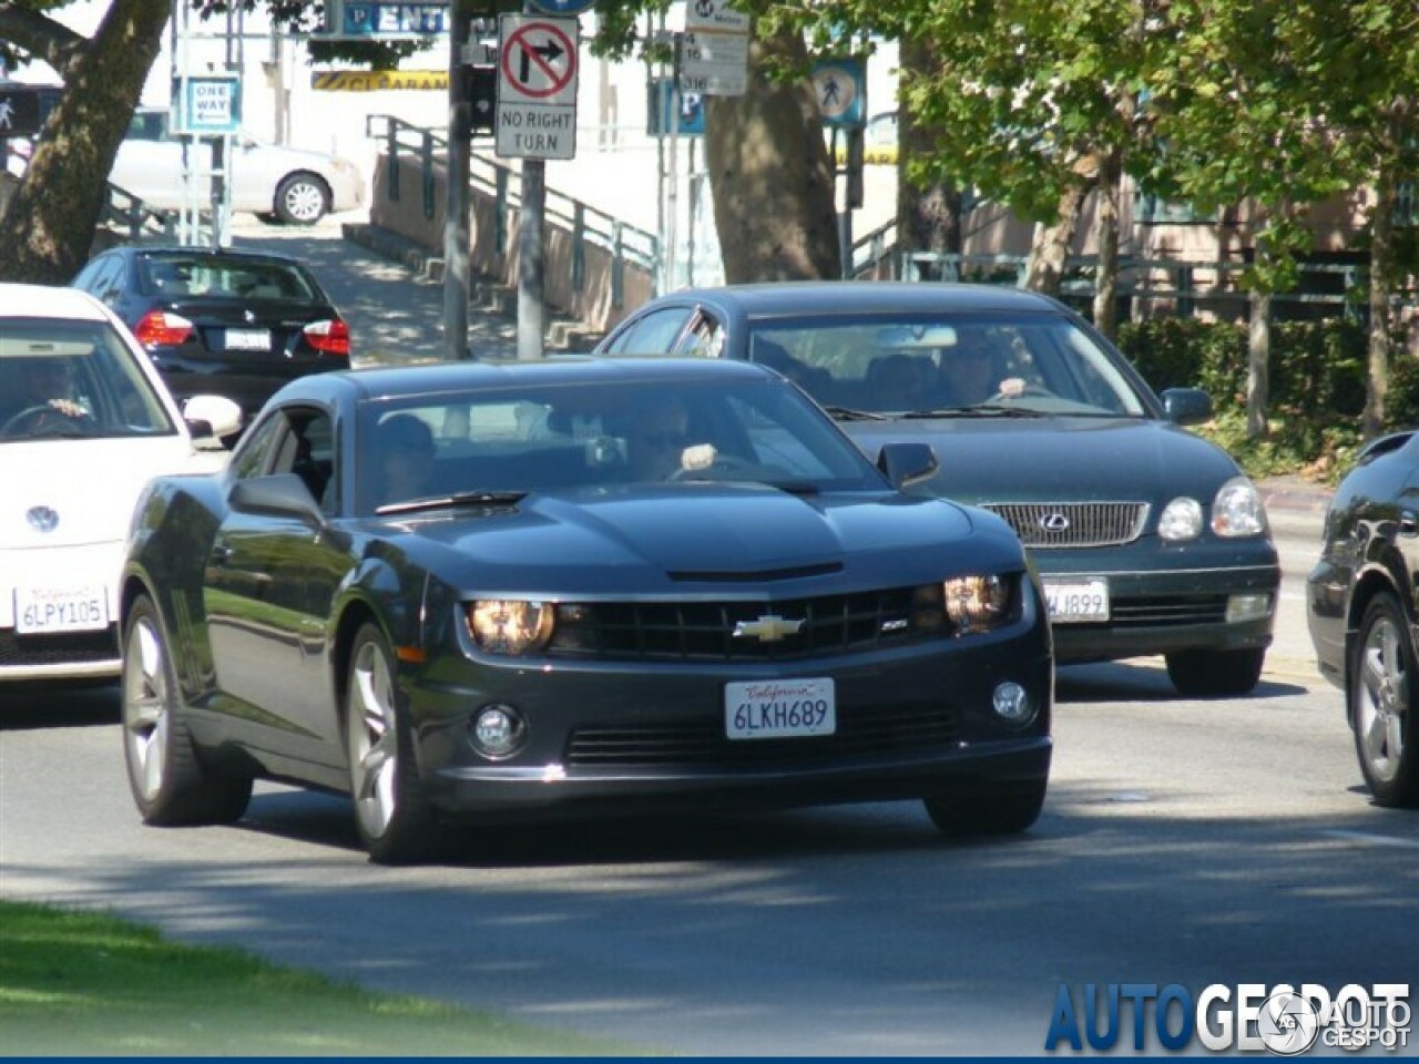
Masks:
[[[0,443],[0,550],[122,541],[150,477],[217,461],[180,436]]]

